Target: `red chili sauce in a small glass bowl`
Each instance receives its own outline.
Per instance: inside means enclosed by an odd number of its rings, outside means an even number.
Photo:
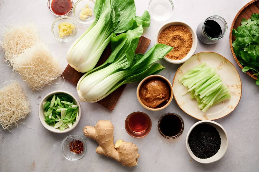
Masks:
[[[51,3],[52,11],[59,16],[67,14],[71,8],[71,0],[53,0]]]

